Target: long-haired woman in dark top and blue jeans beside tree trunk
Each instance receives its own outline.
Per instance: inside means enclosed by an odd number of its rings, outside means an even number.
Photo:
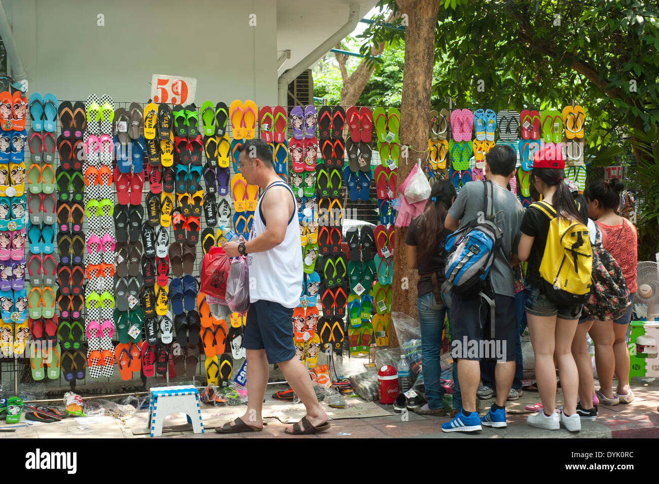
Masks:
[[[448,180],[438,180],[430,190],[430,200],[424,212],[415,217],[407,230],[407,265],[418,269],[416,284],[418,318],[421,326],[423,383],[427,404],[416,413],[444,416],[444,390],[440,385],[442,367],[442,330],[447,306],[442,298],[444,277],[444,240],[451,234],[444,228],[444,219],[455,200],[455,188]]]

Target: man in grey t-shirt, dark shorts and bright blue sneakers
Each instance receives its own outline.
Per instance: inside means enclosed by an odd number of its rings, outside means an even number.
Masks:
[[[524,209],[517,197],[508,189],[509,180],[515,176],[517,155],[505,145],[497,145],[485,157],[485,177],[492,182],[494,215],[501,236],[501,249],[494,254],[488,279],[491,282],[490,298],[494,300],[494,326],[496,344],[482,342],[490,335],[490,305],[478,294],[467,299],[451,292],[451,323],[453,340],[477,345],[477,348],[505,348],[505,362],[496,365],[496,402],[482,419],[476,412],[476,390],[480,381],[480,358],[495,358],[494,354],[463,354],[457,360],[457,373],[462,392],[462,411],[448,423],[442,425],[445,432],[473,432],[482,429],[481,423],[489,427],[505,427],[505,401],[515,376],[515,339],[517,338],[517,312],[515,311],[515,290],[511,259],[517,258],[519,227]],[[455,202],[449,209],[444,223],[449,230],[464,227],[484,213],[486,200],[483,183],[469,182],[461,188]],[[515,260],[516,261],[516,260]],[[466,352],[465,352],[466,353]],[[478,352],[476,352],[478,353]]]

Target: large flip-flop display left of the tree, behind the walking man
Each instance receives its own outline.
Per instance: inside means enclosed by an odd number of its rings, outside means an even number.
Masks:
[[[58,101],[34,93],[22,102],[29,133],[15,130],[3,148],[10,162],[9,181],[0,184],[6,194],[0,230],[7,221],[0,256],[5,247],[9,264],[0,281],[11,291],[0,288],[1,330],[3,351],[15,344],[20,349],[28,329],[32,339],[53,342],[53,350],[31,355],[35,380],[128,380],[169,371],[170,377],[187,378],[206,373],[208,381],[228,385],[234,360],[244,357],[244,314],[210,314],[205,297],[198,297],[198,275],[202,255],[224,240],[222,229],[249,236],[259,190],[239,173],[237,147],[254,136],[270,144],[283,180],[307,177],[293,187],[306,240],[303,295],[316,306],[315,317],[308,310],[318,327],[304,346],[305,360],[317,356],[319,346],[341,350],[349,293],[343,206],[359,204],[349,219],[378,217],[373,169],[395,169],[391,155],[388,164],[381,163],[374,141],[367,141],[370,109],[353,115],[356,108],[305,107],[304,122],[305,111],[314,119],[297,130],[288,115],[299,113],[295,108],[257,109],[252,101],[228,107],[205,101],[198,109],[119,103],[107,94]],[[318,114],[326,111],[336,119],[321,130],[325,115],[316,132]],[[18,151],[21,141],[30,148],[29,158]],[[289,167],[289,148],[299,141],[304,165]],[[355,171],[349,163],[344,167],[349,150],[358,154]],[[361,183],[356,200],[354,187],[341,182],[353,177]],[[391,187],[395,193],[395,181]],[[390,225],[393,217],[380,222]],[[29,281],[22,289],[21,271]],[[16,314],[18,325],[11,321]]]

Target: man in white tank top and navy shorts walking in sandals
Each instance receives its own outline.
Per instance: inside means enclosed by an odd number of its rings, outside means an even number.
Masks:
[[[250,308],[243,336],[249,402],[243,417],[215,431],[237,433],[263,429],[261,410],[268,385],[268,364],[272,363],[279,365],[306,407],[306,416],[287,427],[286,432],[324,431],[329,428],[328,416],[318,404],[306,368],[295,358],[293,344],[293,308],[299,302],[303,276],[295,198],[275,173],[272,151],[264,141],[248,140],[239,151],[239,169],[246,182],[263,190],[254,211],[249,240],[222,244],[229,257],[247,254],[250,267]]]

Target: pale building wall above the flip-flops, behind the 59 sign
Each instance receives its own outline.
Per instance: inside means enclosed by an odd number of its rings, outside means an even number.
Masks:
[[[277,103],[275,0],[2,3],[30,92],[147,101],[152,74],[171,74],[197,79],[198,106],[206,99]],[[99,14],[104,26],[98,26]]]

